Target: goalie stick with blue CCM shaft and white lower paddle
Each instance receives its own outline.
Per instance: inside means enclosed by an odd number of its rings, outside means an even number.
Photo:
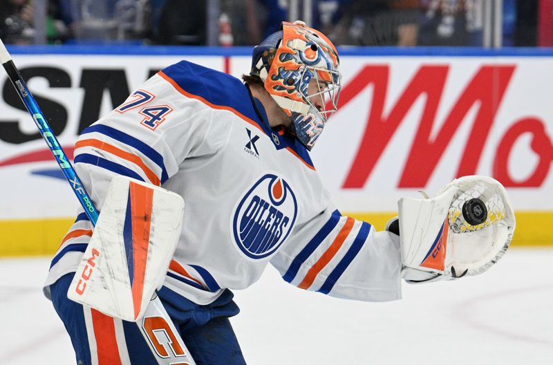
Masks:
[[[50,125],[40,110],[35,98],[27,88],[24,79],[19,74],[17,67],[12,61],[10,53],[8,53],[8,50],[6,49],[6,46],[4,46],[1,39],[0,63],[6,70],[10,82],[12,82],[19,97],[21,97],[21,101],[25,104],[27,111],[30,113],[32,119],[35,120],[35,124],[37,124],[40,134],[46,141],[46,144],[48,144],[48,148],[52,152],[59,167],[62,169],[64,176],[73,189],[73,192],[79,199],[79,203],[81,203],[84,212],[86,212],[86,215],[90,219],[91,223],[96,225],[99,213],[93,204],[91,197],[86,192],[86,189],[84,189],[81,180],[77,176],[77,172],[71,165],[71,162],[69,162],[67,155],[57,141],[52,129],[50,129]],[[162,322],[165,322],[165,324],[162,323],[160,328],[144,328],[144,319],[147,318],[162,319]],[[159,323],[159,321],[156,322]],[[169,315],[167,315],[167,312],[162,306],[162,303],[157,295],[154,295],[153,299],[151,299],[144,318],[140,319],[140,322],[137,321],[135,323],[137,324],[140,333],[142,333],[144,340],[149,345],[153,357],[156,358],[158,364],[195,365],[195,362],[189,355],[189,351],[182,341],[182,338],[178,335],[173,321],[171,321]],[[166,344],[161,344],[159,339],[156,337],[156,332],[165,333],[165,336],[167,336],[169,341]],[[169,348],[166,348],[166,346],[169,346]]]

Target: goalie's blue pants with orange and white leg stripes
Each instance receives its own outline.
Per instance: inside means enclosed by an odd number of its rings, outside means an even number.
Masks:
[[[79,365],[158,364],[134,322],[108,317],[67,299],[74,273],[52,286],[52,302],[71,337]],[[237,315],[233,294],[225,290],[207,306],[200,306],[163,287],[163,306],[197,365],[245,364],[228,317]]]

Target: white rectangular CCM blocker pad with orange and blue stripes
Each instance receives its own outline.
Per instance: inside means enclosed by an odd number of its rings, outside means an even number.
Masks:
[[[111,317],[141,319],[165,280],[184,208],[171,191],[113,178],[68,298]]]

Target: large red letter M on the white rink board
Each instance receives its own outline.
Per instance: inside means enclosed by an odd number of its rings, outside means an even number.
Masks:
[[[431,137],[449,66],[421,66],[387,116],[383,115],[383,109],[386,104],[389,66],[365,66],[341,92],[339,107],[343,108],[364,88],[373,86],[366,129],[344,181],[344,188],[360,188],[365,185],[397,127],[422,95],[425,96],[424,109],[398,187],[427,185],[462,120],[477,104],[478,112],[462,148],[456,176],[475,174],[489,130],[514,69],[514,65],[482,66],[453,103],[441,129]]]

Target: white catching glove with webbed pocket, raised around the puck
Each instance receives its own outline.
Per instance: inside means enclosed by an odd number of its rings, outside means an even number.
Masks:
[[[485,204],[476,208],[479,224],[467,211],[475,200]],[[515,230],[505,188],[486,176],[458,178],[433,198],[402,198],[398,207],[402,277],[409,283],[481,274],[505,254]]]

